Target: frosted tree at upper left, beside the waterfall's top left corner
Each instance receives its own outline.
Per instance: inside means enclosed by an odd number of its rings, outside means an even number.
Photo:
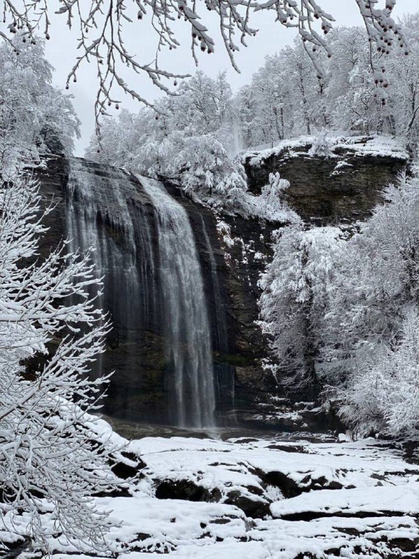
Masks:
[[[44,41],[16,35],[0,45],[0,166],[3,176],[39,160],[42,153],[65,153],[79,134],[71,96],[51,85],[53,68]]]

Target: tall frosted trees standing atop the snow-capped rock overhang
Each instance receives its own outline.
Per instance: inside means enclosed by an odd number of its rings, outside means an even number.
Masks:
[[[371,58],[370,44],[361,27],[340,27],[331,32],[333,56],[326,58],[324,53],[316,53],[326,69],[320,80],[299,41],[276,55],[266,56],[251,84],[236,97],[242,146],[273,145],[284,138],[311,135],[326,128],[407,135],[412,149],[416,149],[417,23],[417,14],[403,20],[409,56],[403,48],[384,48],[391,50],[385,72],[382,54],[373,53]],[[376,72],[370,71],[371,64]]]

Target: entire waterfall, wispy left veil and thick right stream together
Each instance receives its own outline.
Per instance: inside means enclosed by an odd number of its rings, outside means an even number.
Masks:
[[[135,346],[143,342],[138,331],[161,331],[169,392],[169,400],[161,405],[175,410],[172,418],[178,427],[212,427],[211,329],[189,218],[162,183],[138,177],[140,184],[134,184],[131,179],[117,169],[71,161],[69,249],[85,252],[94,247],[96,273],[104,277],[97,305],[111,314],[118,329],[115,337],[123,340],[121,359],[132,366],[132,375],[139,374]],[[153,231],[158,247],[153,245]],[[93,372],[101,369],[99,359]],[[123,402],[126,388],[117,386],[118,374],[110,390],[116,402]]]

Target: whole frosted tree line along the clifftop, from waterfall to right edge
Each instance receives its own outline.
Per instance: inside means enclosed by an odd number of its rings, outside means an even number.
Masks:
[[[321,77],[297,39],[266,56],[251,83],[235,93],[225,72],[216,78],[197,72],[178,84],[176,96],[156,100],[154,109],[103,116],[101,136],[92,137],[87,157],[151,177],[177,177],[191,195],[234,206],[247,188],[235,158],[240,150],[327,130],[401,136],[415,151],[419,14],[406,16],[403,26],[409,55],[396,47],[388,55],[370,50],[360,27],[332,30],[333,55],[315,52],[325,68]],[[372,64],[384,73],[372,72]]]

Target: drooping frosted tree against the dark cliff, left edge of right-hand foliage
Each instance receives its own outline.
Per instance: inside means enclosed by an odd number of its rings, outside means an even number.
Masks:
[[[318,394],[323,317],[341,235],[332,227],[304,230],[301,222],[278,230],[261,277],[260,325],[278,363],[277,380],[289,391]]]

